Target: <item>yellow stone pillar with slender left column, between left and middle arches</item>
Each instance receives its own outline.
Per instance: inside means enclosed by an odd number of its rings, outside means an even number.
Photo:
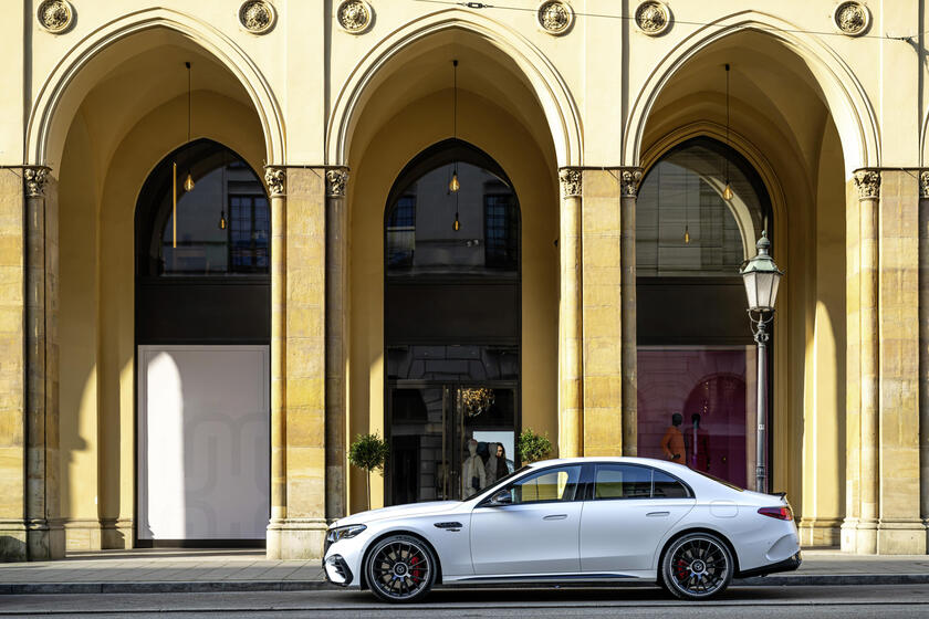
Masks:
[[[319,169],[269,167],[269,558],[319,557],[325,535],[325,188]]]

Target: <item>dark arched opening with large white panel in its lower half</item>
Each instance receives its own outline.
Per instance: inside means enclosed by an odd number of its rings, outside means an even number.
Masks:
[[[136,208],[139,546],[264,543],[269,266],[268,196],[239,155],[200,139],[158,164]]]

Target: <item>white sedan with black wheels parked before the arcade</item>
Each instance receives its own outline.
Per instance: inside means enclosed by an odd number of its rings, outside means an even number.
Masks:
[[[354,514],[323,550],[331,583],[397,602],[438,584],[618,580],[708,599],[800,562],[783,495],[645,458],[536,462],[467,501]]]

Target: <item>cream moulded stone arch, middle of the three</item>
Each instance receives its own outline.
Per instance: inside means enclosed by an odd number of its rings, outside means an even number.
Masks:
[[[483,15],[457,8],[424,15],[392,32],[355,67],[340,90],[330,117],[326,129],[327,162],[343,165],[348,161],[353,128],[362,116],[366,97],[376,88],[380,70],[417,41],[453,29],[486,40],[516,64],[543,109],[554,141],[557,165],[582,165],[580,111],[554,65],[520,33]]]

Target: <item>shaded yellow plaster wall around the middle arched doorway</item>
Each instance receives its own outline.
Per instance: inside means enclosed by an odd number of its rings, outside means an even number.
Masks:
[[[384,209],[403,167],[449,136],[446,90],[413,102],[376,132],[349,162],[349,432],[384,436]],[[512,180],[522,209],[522,423],[557,431],[556,171],[525,128],[494,103],[459,92],[459,137],[493,157]],[[351,511],[365,508],[364,476],[351,472]],[[372,502],[383,504],[379,475]]]

